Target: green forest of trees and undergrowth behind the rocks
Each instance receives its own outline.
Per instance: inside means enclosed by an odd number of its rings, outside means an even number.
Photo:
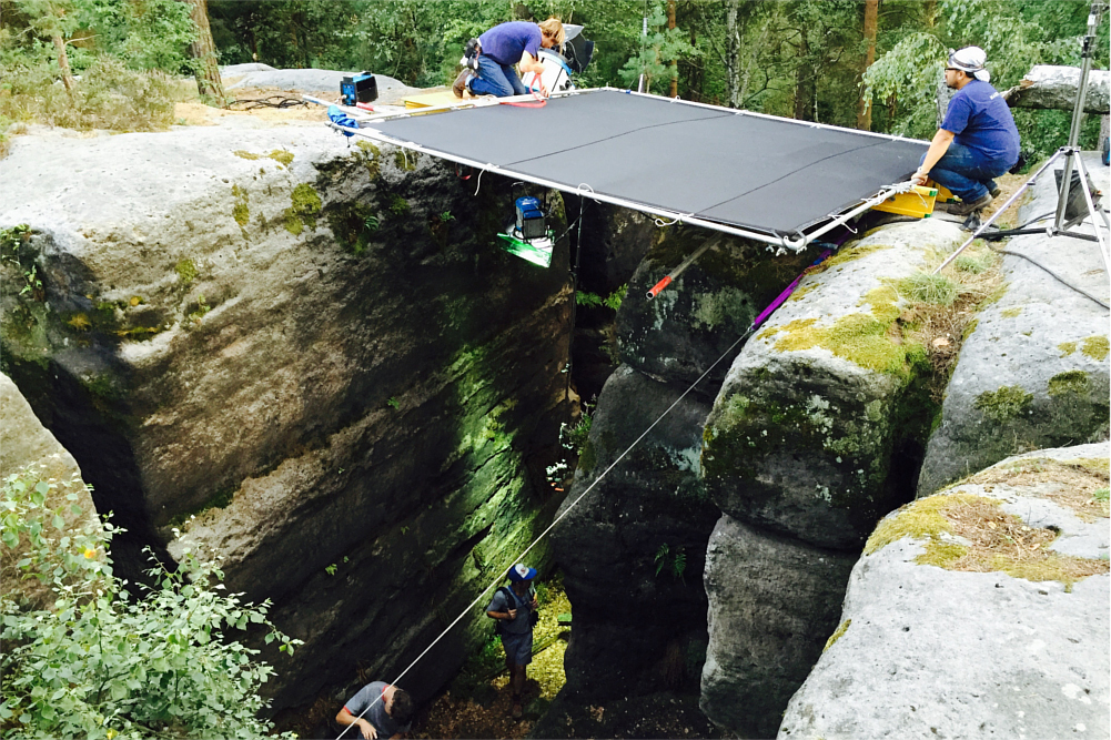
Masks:
[[[159,76],[196,73],[211,92],[206,61],[450,84],[467,39],[507,20],[556,16],[597,42],[579,87],[635,87],[643,72],[659,94],[929,139],[949,49],[982,47],[992,84],[1004,90],[1034,64],[1079,66],[1089,8],[1085,0],[0,0],[0,137],[20,122],[166,128],[181,93]],[[1108,68],[1105,21],[1098,69]],[[80,76],[72,89],[64,67]],[[96,111],[113,100],[123,110]],[[1065,143],[1069,112],[1014,116],[1028,162]],[[1081,144],[1094,149],[1099,123],[1089,118]]]

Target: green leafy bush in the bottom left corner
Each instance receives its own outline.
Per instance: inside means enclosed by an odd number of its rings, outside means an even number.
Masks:
[[[266,641],[292,653],[293,640],[267,619],[269,603],[223,594],[223,573],[187,549],[170,570],[152,556],[150,587],[129,593],[108,549],[120,530],[84,519],[64,529],[64,507],[47,507],[56,481],[33,470],[9,476],[0,497],[3,547],[12,568],[49,587],[47,609],[0,596],[0,731],[6,738],[254,738],[271,723],[256,713],[273,669],[231,629],[269,629]],[[77,494],[67,497],[72,503]],[[81,521],[79,518],[78,521]],[[4,573],[11,578],[12,573]]]

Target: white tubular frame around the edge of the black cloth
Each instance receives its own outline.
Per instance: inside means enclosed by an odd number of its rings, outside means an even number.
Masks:
[[[740,116],[753,119],[754,121],[763,121],[772,126],[788,126],[788,127],[805,127],[812,130],[819,130],[827,132],[840,132],[838,136],[843,136],[844,133],[851,133],[857,137],[861,137],[862,143],[860,149],[867,149],[874,143],[871,142],[889,142],[898,141],[917,144],[922,152],[925,151],[929,146],[928,142],[918,141],[914,139],[907,139],[903,137],[893,137],[882,133],[873,133],[870,131],[857,131],[854,129],[844,129],[834,126],[828,126],[822,123],[812,123],[808,121],[797,121],[794,119],[783,119],[774,116],[767,116],[762,113],[753,113],[751,111],[737,110],[731,108],[722,108],[719,106],[710,106],[707,103],[691,102],[687,100],[680,100],[678,98],[662,98],[660,96],[652,96],[648,93],[631,92],[628,90],[621,90],[617,88],[591,88],[583,90],[568,90],[563,92],[552,93],[549,98],[550,101],[559,101],[564,98],[573,98],[578,96],[590,96],[599,93],[620,93],[623,96],[634,96],[637,98],[643,98],[652,100],[660,106],[683,106],[691,107],[695,109],[702,109],[705,111],[713,112],[717,117],[730,117]],[[558,181],[537,174],[534,172],[521,171],[520,168],[514,168],[512,164],[500,164],[498,162],[491,161],[480,161],[473,157],[462,156],[457,152],[447,151],[444,148],[438,148],[434,143],[429,142],[418,142],[408,140],[406,138],[397,136],[397,133],[387,133],[379,128],[376,128],[379,123],[384,123],[387,121],[397,121],[400,119],[411,119],[417,117],[426,117],[430,113],[456,113],[459,114],[460,111],[476,110],[481,108],[498,107],[502,104],[513,104],[520,102],[534,102],[534,98],[530,96],[517,96],[511,98],[477,98],[473,100],[464,100],[458,103],[447,104],[447,106],[436,106],[429,108],[421,108],[417,110],[406,110],[397,112],[384,112],[379,114],[366,114],[363,111],[358,111],[360,114],[356,118],[359,122],[359,128],[350,128],[337,124],[329,121],[328,126],[331,128],[342,131],[348,134],[354,134],[379,141],[381,143],[393,144],[402,149],[410,149],[418,152],[423,152],[432,157],[457,162],[459,164],[464,164],[472,167],[482,171],[490,171],[497,174],[502,174],[504,177],[510,177],[517,180],[523,180],[526,182],[531,182],[544,188],[551,188],[554,190],[560,190],[564,192],[570,192],[578,194],[580,197],[590,198],[595,201],[608,202],[614,206],[620,206],[623,208],[630,208],[637,211],[641,211],[652,216],[657,219],[658,224],[670,224],[675,222],[689,223],[691,226],[702,227],[705,229],[711,229],[721,233],[741,237],[745,239],[753,239],[755,241],[763,242],[769,246],[769,250],[775,250],[777,253],[785,253],[785,250],[791,250],[794,252],[800,252],[808,247],[811,242],[819,240],[823,234],[837,229],[838,227],[845,226],[850,220],[854,219],[860,213],[871,209],[885,201],[888,198],[895,193],[909,192],[913,189],[913,183],[909,180],[900,181],[891,184],[885,184],[882,187],[877,187],[870,191],[870,194],[857,194],[857,197],[848,204],[832,212],[828,212],[824,216],[812,219],[809,223],[804,223],[801,227],[794,229],[793,231],[777,230],[772,228],[762,228],[752,224],[741,224],[741,223],[728,223],[711,218],[695,216],[693,212],[683,212],[682,210],[675,208],[668,208],[665,206],[658,203],[647,203],[640,200],[631,199],[628,197],[622,197],[620,194],[613,194],[608,192],[595,191],[589,183],[580,182],[578,184],[568,181]],[[542,113],[541,113],[542,114]],[[437,116],[437,118],[440,118]],[[651,126],[645,126],[644,128],[651,128]],[[797,129],[789,130],[783,129],[783,131],[798,132]],[[603,137],[604,139],[604,137]],[[600,140],[599,140],[600,141]],[[591,142],[591,143],[598,143]],[[651,156],[651,154],[649,154]],[[913,166],[908,167],[907,174],[909,176],[918,166],[918,161],[913,162]],[[874,186],[873,186],[874,187]]]

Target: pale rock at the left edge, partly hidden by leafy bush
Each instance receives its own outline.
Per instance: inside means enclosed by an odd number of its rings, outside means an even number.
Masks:
[[[81,480],[73,456],[42,427],[11,378],[0,373],[0,478],[18,476],[28,469],[38,480],[56,483],[57,487],[47,494],[44,506],[61,510],[66,532],[87,526],[100,528],[92,497]],[[70,493],[78,498],[67,499]],[[74,513],[72,506],[80,507],[81,513]],[[20,579],[14,571],[14,563],[24,551],[22,548],[10,550],[0,544],[0,572],[3,573],[0,588],[6,593],[18,593],[20,599],[29,600],[36,608],[46,608],[50,590],[36,579]]]

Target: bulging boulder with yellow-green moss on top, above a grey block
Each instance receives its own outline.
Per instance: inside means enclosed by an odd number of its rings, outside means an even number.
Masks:
[[[749,340],[702,451],[724,513],[852,549],[905,500],[933,407],[924,350],[903,333],[900,280],[927,250],[961,241],[955,224],[938,221],[879,229],[808,276]]]

